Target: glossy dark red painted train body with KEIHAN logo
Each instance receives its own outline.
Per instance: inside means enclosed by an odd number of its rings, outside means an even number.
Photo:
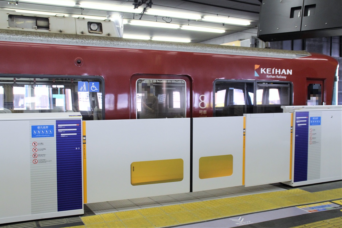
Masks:
[[[83,59],[82,66],[75,64],[76,58]],[[322,99],[330,105],[338,66],[335,59],[321,54],[285,59],[19,42],[0,42],[0,59],[1,74],[103,77],[106,119],[135,119],[135,90],[132,88],[135,88],[135,79],[143,78],[136,74],[186,79],[186,117],[199,117],[199,110],[203,110],[199,108],[202,94],[207,97],[209,106],[205,110],[211,117],[215,79],[290,81],[293,105],[306,105],[307,80],[321,80]],[[254,76],[254,65],[260,65],[257,69],[260,77]],[[270,79],[260,73],[261,68],[292,69],[292,75],[287,75],[286,79]]]

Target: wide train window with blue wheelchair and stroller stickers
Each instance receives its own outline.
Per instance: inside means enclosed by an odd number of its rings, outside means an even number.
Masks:
[[[0,113],[81,112],[83,120],[101,120],[102,87],[99,79],[1,77]]]

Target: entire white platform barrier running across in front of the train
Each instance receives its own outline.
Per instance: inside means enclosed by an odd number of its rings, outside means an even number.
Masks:
[[[82,214],[83,197],[94,203],[189,192],[190,163],[193,191],[342,179],[342,106],[283,108],[194,118],[192,161],[190,118],[82,125],[80,113],[0,114],[0,224]]]

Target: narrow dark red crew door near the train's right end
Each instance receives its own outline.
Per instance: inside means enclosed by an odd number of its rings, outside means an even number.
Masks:
[[[324,84],[323,80],[306,80],[307,102],[306,105],[324,104]]]

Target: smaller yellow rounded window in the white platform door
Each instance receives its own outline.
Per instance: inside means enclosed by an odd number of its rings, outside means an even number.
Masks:
[[[199,178],[231,176],[233,174],[233,155],[201,157],[199,159]]]

